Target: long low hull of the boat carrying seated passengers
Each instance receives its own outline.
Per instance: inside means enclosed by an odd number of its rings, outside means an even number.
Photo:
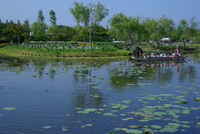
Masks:
[[[186,56],[179,57],[151,57],[151,58],[137,58],[132,57],[131,59],[136,61],[184,61]]]

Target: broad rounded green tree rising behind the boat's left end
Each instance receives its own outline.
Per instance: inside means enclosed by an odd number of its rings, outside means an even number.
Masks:
[[[116,40],[124,41],[127,50],[142,41],[144,28],[139,17],[127,17],[118,13],[113,15],[109,23],[111,25],[109,35]]]

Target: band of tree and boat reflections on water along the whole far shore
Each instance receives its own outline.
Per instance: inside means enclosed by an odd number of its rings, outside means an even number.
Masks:
[[[195,54],[193,56],[197,55]],[[16,72],[17,74],[33,69],[33,77],[42,78],[44,76],[49,76],[51,80],[54,80],[56,75],[59,75],[60,73],[70,72],[73,74],[74,82],[89,83],[89,90],[92,90],[92,87],[97,86],[95,85],[96,77],[99,78],[100,76],[98,75],[101,75],[96,74],[97,76],[93,76],[93,71],[101,69],[103,66],[106,67],[109,74],[111,86],[118,88],[125,87],[129,84],[138,85],[138,83],[141,83],[144,80],[152,79],[163,83],[172,80],[174,75],[178,75],[179,81],[181,82],[185,81],[187,77],[189,77],[189,79],[194,79],[196,77],[195,65],[184,62],[140,63],[128,60],[120,62],[105,62],[102,60],[97,62],[48,62],[1,57],[0,65],[0,70],[9,70]]]

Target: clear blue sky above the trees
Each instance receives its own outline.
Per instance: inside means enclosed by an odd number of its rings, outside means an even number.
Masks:
[[[49,11],[56,12],[57,24],[75,26],[76,22],[69,8],[73,7],[74,0],[0,0],[0,19],[19,19],[23,22],[29,19],[30,23],[37,20],[38,11],[41,9],[45,22],[50,25]],[[119,12],[127,16],[143,16],[160,18],[165,15],[172,18],[177,24],[181,19],[189,21],[193,16],[200,22],[200,0],[76,0],[88,3],[100,2],[109,9],[109,15],[102,21],[107,25],[107,20]]]

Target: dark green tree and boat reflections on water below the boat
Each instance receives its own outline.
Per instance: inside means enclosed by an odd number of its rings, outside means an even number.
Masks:
[[[179,81],[195,79],[195,65],[186,62],[160,62],[140,63],[124,61],[113,65],[110,69],[110,80],[112,86],[125,87],[129,84],[138,85],[144,80],[164,83],[172,81],[179,76]]]

